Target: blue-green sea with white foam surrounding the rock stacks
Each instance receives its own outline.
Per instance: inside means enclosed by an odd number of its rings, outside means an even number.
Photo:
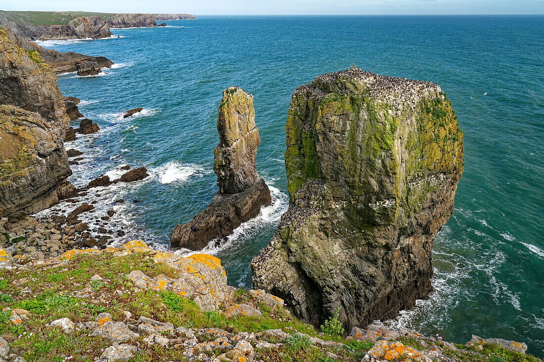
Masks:
[[[124,164],[150,170],[98,197],[104,209],[127,201],[115,221],[126,239],[166,248],[172,227],[207,207],[217,190],[221,91],[241,86],[255,96],[257,169],[274,202],[206,251],[221,258],[230,284],[249,288],[250,260],[287,208],[283,152],[295,87],[354,63],[430,80],[465,132],[465,173],[436,238],[435,291],[386,323],[458,342],[471,334],[520,340],[544,357],[544,17],[202,17],[114,33],[42,45],[116,63],[97,77],[60,75],[59,87],[101,127],[67,145],[85,152],[73,183],[119,174]],[[135,107],[145,111],[120,118]]]

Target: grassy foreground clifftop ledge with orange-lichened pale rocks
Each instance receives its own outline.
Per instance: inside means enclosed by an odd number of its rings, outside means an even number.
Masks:
[[[501,339],[319,332],[282,299],[228,286],[219,259],[140,240],[46,260],[0,249],[0,290],[0,361],[540,361]]]

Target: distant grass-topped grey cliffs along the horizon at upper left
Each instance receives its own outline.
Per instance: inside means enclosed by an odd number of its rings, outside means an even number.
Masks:
[[[159,20],[194,18],[190,14],[160,14]],[[25,40],[100,39],[112,36],[110,28],[157,26],[154,14],[107,14],[81,11],[0,11],[0,24]]]

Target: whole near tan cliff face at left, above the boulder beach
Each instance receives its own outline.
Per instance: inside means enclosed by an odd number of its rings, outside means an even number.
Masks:
[[[70,126],[57,77],[0,30],[0,216],[35,213],[73,188],[63,145]]]

